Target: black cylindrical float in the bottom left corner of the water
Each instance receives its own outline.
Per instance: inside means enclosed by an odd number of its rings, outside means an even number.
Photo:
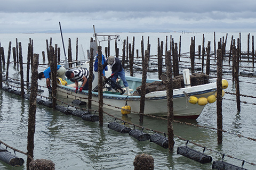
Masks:
[[[24,160],[22,158],[19,158],[11,154],[11,152],[7,151],[1,146],[0,146],[0,160],[2,160],[3,162],[11,166],[21,166],[24,164]]]

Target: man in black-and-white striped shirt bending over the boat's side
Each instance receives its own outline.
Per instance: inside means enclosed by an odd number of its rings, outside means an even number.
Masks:
[[[88,90],[89,89],[89,71],[86,69],[77,69],[72,71],[66,72],[66,77],[76,84],[76,91],[78,91],[78,81],[82,81],[82,85],[79,88],[79,92],[82,92],[82,90]],[[94,80],[94,74],[92,81]]]

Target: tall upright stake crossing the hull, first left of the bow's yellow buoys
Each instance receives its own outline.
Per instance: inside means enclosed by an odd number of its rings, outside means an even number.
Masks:
[[[166,74],[167,74],[167,84],[166,94],[167,94],[167,132],[168,132],[168,146],[169,151],[173,150],[174,146],[174,133],[173,133],[173,83],[172,83],[172,56],[171,51],[167,51],[166,55]]]

